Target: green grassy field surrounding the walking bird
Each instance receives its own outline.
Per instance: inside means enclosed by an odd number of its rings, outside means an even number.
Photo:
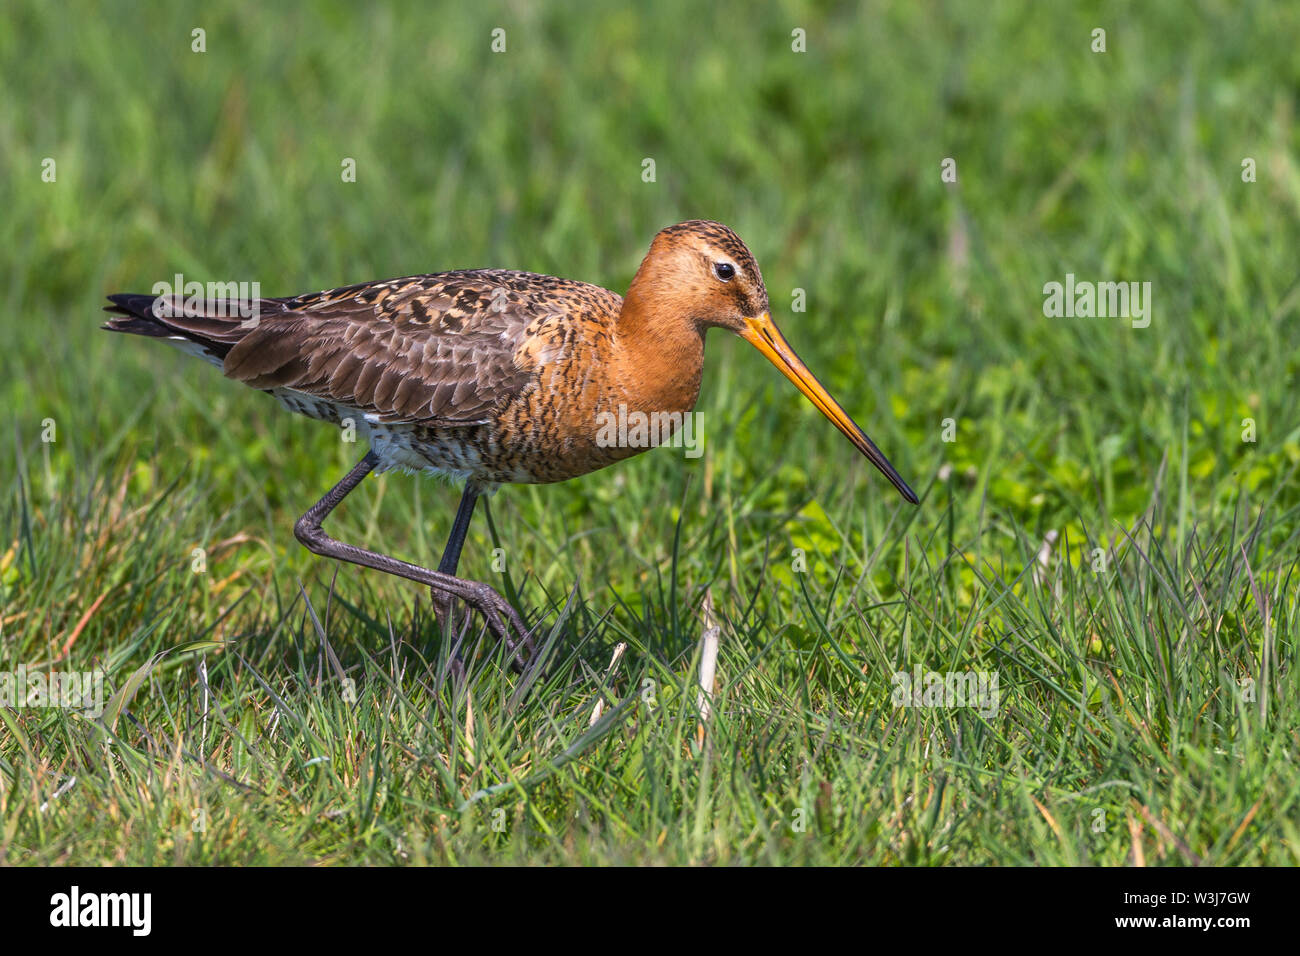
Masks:
[[[0,861],[1295,864],[1300,8],[642,7],[9,5],[0,670],[107,700],[0,708]],[[696,217],[923,502],[715,332],[701,458],[480,510],[545,676],[298,545],[337,429],[96,330],[176,273],[623,291]],[[433,563],[456,498],[330,528]]]

